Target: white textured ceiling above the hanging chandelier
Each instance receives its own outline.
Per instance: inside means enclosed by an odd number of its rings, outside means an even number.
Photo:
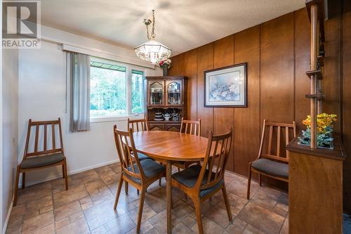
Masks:
[[[43,0],[41,23],[110,44],[147,41],[155,10],[157,41],[183,53],[305,6],[305,0]]]

